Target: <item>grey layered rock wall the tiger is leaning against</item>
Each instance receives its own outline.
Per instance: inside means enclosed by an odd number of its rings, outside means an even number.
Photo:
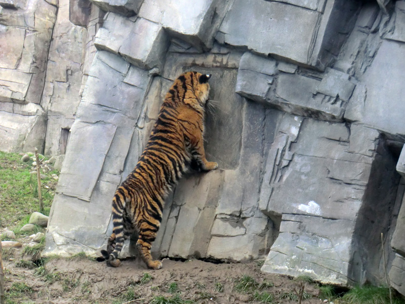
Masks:
[[[213,74],[219,169],[179,183],[153,254],[266,258],[264,272],[338,284],[387,269],[405,294],[405,1],[60,0],[33,35],[13,23],[32,6],[0,5],[0,41],[16,41],[0,54],[0,148],[65,155],[48,254],[105,246],[112,195],[193,69]]]

